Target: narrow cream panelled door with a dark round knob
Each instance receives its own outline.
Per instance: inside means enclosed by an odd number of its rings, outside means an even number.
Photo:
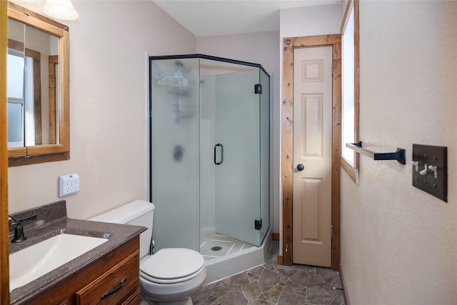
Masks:
[[[293,52],[294,264],[331,266],[332,55]]]

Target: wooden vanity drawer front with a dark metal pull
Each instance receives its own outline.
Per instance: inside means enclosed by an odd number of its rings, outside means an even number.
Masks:
[[[138,289],[139,252],[136,251],[76,291],[76,304],[120,304]]]

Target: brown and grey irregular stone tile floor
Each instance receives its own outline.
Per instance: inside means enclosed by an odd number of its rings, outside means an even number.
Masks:
[[[328,268],[276,264],[278,241],[266,264],[206,285],[192,296],[194,305],[343,305],[338,272]]]

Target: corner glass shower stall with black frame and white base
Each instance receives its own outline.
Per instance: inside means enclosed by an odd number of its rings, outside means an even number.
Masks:
[[[236,258],[243,268],[243,254],[268,253],[270,76],[191,54],[149,57],[149,80],[155,249],[194,249],[210,281],[229,276],[211,276],[211,265]]]

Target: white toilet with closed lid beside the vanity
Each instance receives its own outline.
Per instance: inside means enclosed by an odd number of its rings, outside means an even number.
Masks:
[[[184,248],[160,249],[149,255],[154,204],[136,200],[89,219],[148,228],[140,234],[141,304],[192,304],[191,295],[206,279],[204,257]]]

